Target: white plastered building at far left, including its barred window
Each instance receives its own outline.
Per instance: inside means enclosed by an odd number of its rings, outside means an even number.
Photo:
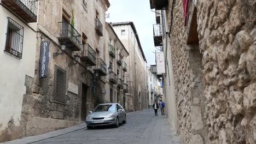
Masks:
[[[20,16],[8,1],[0,1],[0,142],[22,136],[24,83],[25,77],[34,77],[37,42],[37,13],[30,10]]]

